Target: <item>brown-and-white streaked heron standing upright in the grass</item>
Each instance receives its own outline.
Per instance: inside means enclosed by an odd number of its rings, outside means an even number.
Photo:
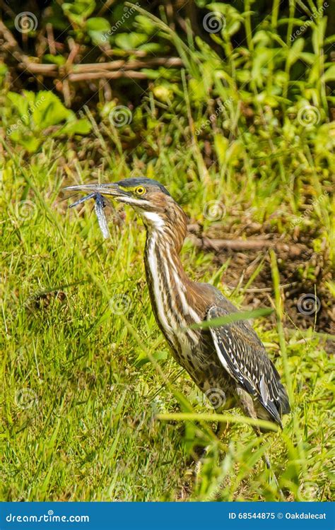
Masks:
[[[239,406],[251,418],[281,426],[290,411],[286,389],[247,320],[209,329],[194,328],[206,320],[237,312],[222,293],[188,278],[180,250],[187,216],[162,184],[130,178],[112,184],[86,184],[66,189],[112,196],[129,204],[146,226],[144,263],[155,319],[172,355],[207,396],[225,396],[221,410]]]

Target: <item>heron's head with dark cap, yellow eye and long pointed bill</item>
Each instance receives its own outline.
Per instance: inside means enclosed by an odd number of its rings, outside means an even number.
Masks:
[[[100,193],[132,206],[143,218],[147,228],[183,228],[187,217],[182,208],[172,199],[167,189],[153,179],[130,178],[111,184],[83,184],[65,189],[76,192]]]

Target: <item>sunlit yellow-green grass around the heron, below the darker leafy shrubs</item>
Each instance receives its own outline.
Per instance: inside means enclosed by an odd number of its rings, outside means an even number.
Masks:
[[[247,180],[238,174],[223,179],[213,166],[204,184],[187,172],[192,151],[176,169],[175,151],[163,143],[157,158],[141,164],[135,153],[126,160],[101,148],[105,182],[140,170],[155,176],[170,184],[205,230],[211,223],[203,208],[211,200],[224,201],[227,226],[236,223],[233,206],[258,220],[275,216],[272,222],[283,232],[278,205],[287,220],[296,214],[276,175],[264,175],[264,182],[252,177],[251,158],[245,158]],[[324,338],[313,329],[286,334],[277,286],[269,307],[276,307],[278,326],[264,326],[265,319],[254,325],[291,391],[292,413],[283,432],[261,440],[237,418],[219,442],[211,434],[211,408],[172,360],[155,324],[143,271],[143,226],[127,210],[125,222],[111,226],[112,238],[104,242],[90,204],[69,211],[59,200],[77,171],[83,179],[97,178],[85,161],[74,162],[68,146],[52,141],[29,164],[9,147],[4,160],[1,500],[175,500],[195,446],[207,444],[201,480],[187,499],[281,500],[261,459],[267,451],[288,500],[329,500],[334,387]],[[326,235],[327,245],[330,201],[327,196],[322,211],[306,220]],[[187,242],[182,257],[192,278],[213,281],[229,294],[211,254]],[[235,291],[232,300],[242,307],[243,292]],[[175,416],[180,412],[190,416]]]

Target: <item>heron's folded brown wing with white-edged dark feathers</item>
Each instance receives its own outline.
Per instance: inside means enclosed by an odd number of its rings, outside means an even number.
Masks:
[[[212,306],[207,319],[223,317],[228,311]],[[281,425],[283,412],[281,400],[286,391],[265,348],[254,330],[238,321],[210,328],[216,353],[230,377],[258,399],[271,418]],[[287,399],[287,396],[286,396]]]

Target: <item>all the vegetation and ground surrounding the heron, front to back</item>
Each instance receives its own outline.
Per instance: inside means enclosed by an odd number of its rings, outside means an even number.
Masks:
[[[281,500],[264,452],[287,500],[329,500],[331,1],[1,10],[1,500]],[[213,435],[155,325],[134,213],[111,205],[104,242],[89,204],[62,201],[138,175],[187,211],[192,278],[274,309],[254,326],[290,394],[283,432],[256,440],[233,411]]]

